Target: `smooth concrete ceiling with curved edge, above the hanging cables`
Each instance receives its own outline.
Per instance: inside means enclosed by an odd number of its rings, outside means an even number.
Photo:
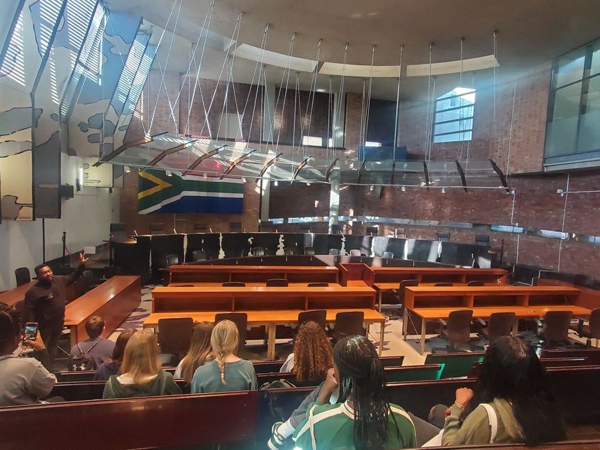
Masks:
[[[179,5],[181,3],[181,12]],[[165,26],[175,2],[175,12],[167,29],[175,30],[167,68],[188,70],[190,42],[197,42],[210,5],[209,0],[109,0],[109,8],[142,15],[157,26]],[[177,26],[174,28],[176,16]],[[287,54],[292,33],[296,32],[293,55],[314,59],[322,40],[320,62],[343,62],[348,44],[349,64],[371,64],[375,45],[376,65],[398,64],[403,44],[403,73],[406,64],[424,64],[429,60],[433,42],[433,62],[460,60],[460,39],[464,37],[464,58],[493,53],[493,32],[497,33],[499,80],[538,64],[548,63],[600,37],[600,1],[598,0],[216,0],[210,24],[209,48],[203,60],[201,76],[218,78],[224,53],[219,35],[231,37],[235,21],[244,12],[237,41],[260,46],[264,27],[269,25],[266,48]],[[165,35],[159,58],[167,62],[169,43]],[[155,64],[156,66],[156,64]],[[255,62],[235,59],[234,79],[250,82]],[[282,69],[266,69],[269,81],[280,84]],[[478,82],[491,80],[493,71],[481,71]],[[471,74],[466,78],[470,80]],[[309,89],[311,74],[300,74],[301,89]],[[334,90],[339,77],[333,77]],[[452,89],[457,75],[437,78],[436,92]],[[295,85],[291,76],[290,87]],[[285,83],[284,83],[285,84]],[[374,79],[372,95],[395,98],[397,81]],[[427,78],[403,78],[402,98],[424,99]],[[329,76],[320,75],[317,87],[329,89]],[[345,91],[360,92],[363,80],[345,80]]]

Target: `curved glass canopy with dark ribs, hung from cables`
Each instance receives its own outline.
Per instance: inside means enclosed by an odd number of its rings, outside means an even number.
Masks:
[[[124,145],[100,161],[181,175],[375,186],[507,188],[504,174],[486,161],[358,161],[323,158],[273,145],[158,134]]]

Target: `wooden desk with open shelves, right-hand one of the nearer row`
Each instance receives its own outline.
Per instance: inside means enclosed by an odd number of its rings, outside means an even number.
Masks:
[[[423,353],[427,321],[447,319],[458,309],[471,309],[477,318],[489,318],[494,312],[514,312],[513,334],[516,334],[519,318],[541,317],[550,310],[589,315],[589,309],[569,304],[578,295],[579,289],[562,286],[406,287],[403,339],[408,334],[409,311],[421,318]]]

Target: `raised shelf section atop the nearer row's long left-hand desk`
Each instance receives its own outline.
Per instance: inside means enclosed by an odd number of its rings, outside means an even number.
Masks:
[[[156,287],[152,312],[375,307],[370,287]]]

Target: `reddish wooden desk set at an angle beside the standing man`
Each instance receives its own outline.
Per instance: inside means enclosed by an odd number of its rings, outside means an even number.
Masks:
[[[71,346],[85,339],[85,323],[91,316],[104,318],[102,337],[110,336],[140,305],[141,296],[140,277],[113,276],[73,300],[64,309],[64,326],[71,328]]]

